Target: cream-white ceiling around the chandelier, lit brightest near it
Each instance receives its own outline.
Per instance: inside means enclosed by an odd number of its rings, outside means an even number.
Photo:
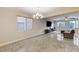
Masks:
[[[38,12],[44,17],[79,11],[78,7],[12,7],[12,9],[24,12],[30,17],[36,13],[37,8],[39,8]]]

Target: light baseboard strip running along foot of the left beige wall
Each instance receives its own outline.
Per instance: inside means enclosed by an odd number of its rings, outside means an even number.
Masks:
[[[5,43],[0,44],[0,47],[11,44],[11,43],[19,42],[21,40],[25,40],[25,39],[33,38],[33,37],[36,37],[36,36],[40,36],[42,34],[44,34],[44,33],[38,33],[38,34],[35,34],[35,35],[30,35],[29,37],[26,37],[26,38],[23,38],[23,39],[17,39],[17,40],[5,42]]]

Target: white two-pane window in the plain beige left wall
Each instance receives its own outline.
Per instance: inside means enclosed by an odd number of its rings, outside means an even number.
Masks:
[[[32,29],[32,19],[17,17],[18,30],[25,31]]]

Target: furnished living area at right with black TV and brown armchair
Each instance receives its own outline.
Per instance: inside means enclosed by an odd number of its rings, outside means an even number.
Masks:
[[[47,29],[45,34],[56,34],[56,39],[59,41],[72,41],[79,47],[79,12],[71,12],[67,14],[49,17],[46,20]]]

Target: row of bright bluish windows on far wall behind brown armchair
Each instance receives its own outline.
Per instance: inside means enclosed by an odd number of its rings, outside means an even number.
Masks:
[[[78,28],[78,20],[57,21],[55,27],[58,30],[70,30]]]

